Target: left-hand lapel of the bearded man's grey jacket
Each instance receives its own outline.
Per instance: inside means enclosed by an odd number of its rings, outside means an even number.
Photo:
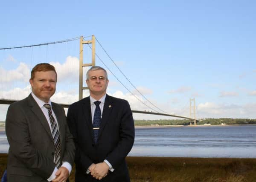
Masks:
[[[38,120],[41,122],[44,129],[49,134],[49,136],[52,138],[52,133],[49,128],[48,121],[45,118],[44,113],[42,112],[41,108],[38,106],[38,104],[36,103],[35,99],[32,97],[31,94],[28,96],[28,103],[29,103],[29,106],[31,107],[32,112],[38,117]]]

